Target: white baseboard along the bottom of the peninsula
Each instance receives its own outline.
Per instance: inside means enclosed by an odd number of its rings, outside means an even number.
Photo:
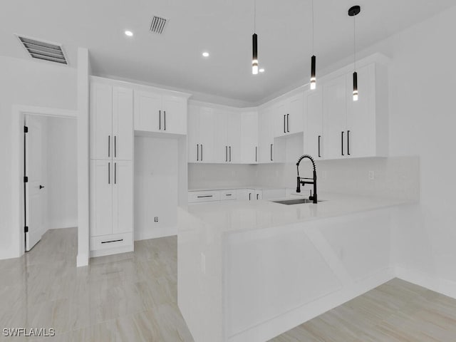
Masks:
[[[378,271],[366,279],[353,282],[350,286],[346,286],[338,291],[334,291],[321,299],[304,304],[297,309],[289,311],[285,314],[277,316],[271,320],[261,322],[259,325],[249,328],[247,331],[242,331],[234,336],[229,336],[229,342],[257,342],[269,341],[281,333],[309,321],[316,316],[324,314],[326,311],[336,308],[339,305],[350,301],[351,299],[365,294],[367,291],[375,289],[375,287],[385,284],[387,281],[395,278],[395,269],[388,268]]]

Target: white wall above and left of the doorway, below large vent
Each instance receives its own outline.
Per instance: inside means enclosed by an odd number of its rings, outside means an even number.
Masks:
[[[11,222],[11,106],[76,109],[76,69],[0,57],[0,259],[19,257]]]

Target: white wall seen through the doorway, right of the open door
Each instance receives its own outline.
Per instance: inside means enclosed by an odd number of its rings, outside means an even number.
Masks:
[[[76,120],[47,118],[48,229],[78,225]]]

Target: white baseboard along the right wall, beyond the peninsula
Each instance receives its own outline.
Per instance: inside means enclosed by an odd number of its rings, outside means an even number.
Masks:
[[[400,266],[395,267],[395,275],[397,278],[408,281],[409,283],[456,299],[456,281],[437,278],[430,274],[405,269]]]

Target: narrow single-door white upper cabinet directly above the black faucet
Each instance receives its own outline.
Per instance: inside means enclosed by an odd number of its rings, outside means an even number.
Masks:
[[[315,160],[323,158],[323,92],[321,88],[306,94],[306,135],[304,153]]]

